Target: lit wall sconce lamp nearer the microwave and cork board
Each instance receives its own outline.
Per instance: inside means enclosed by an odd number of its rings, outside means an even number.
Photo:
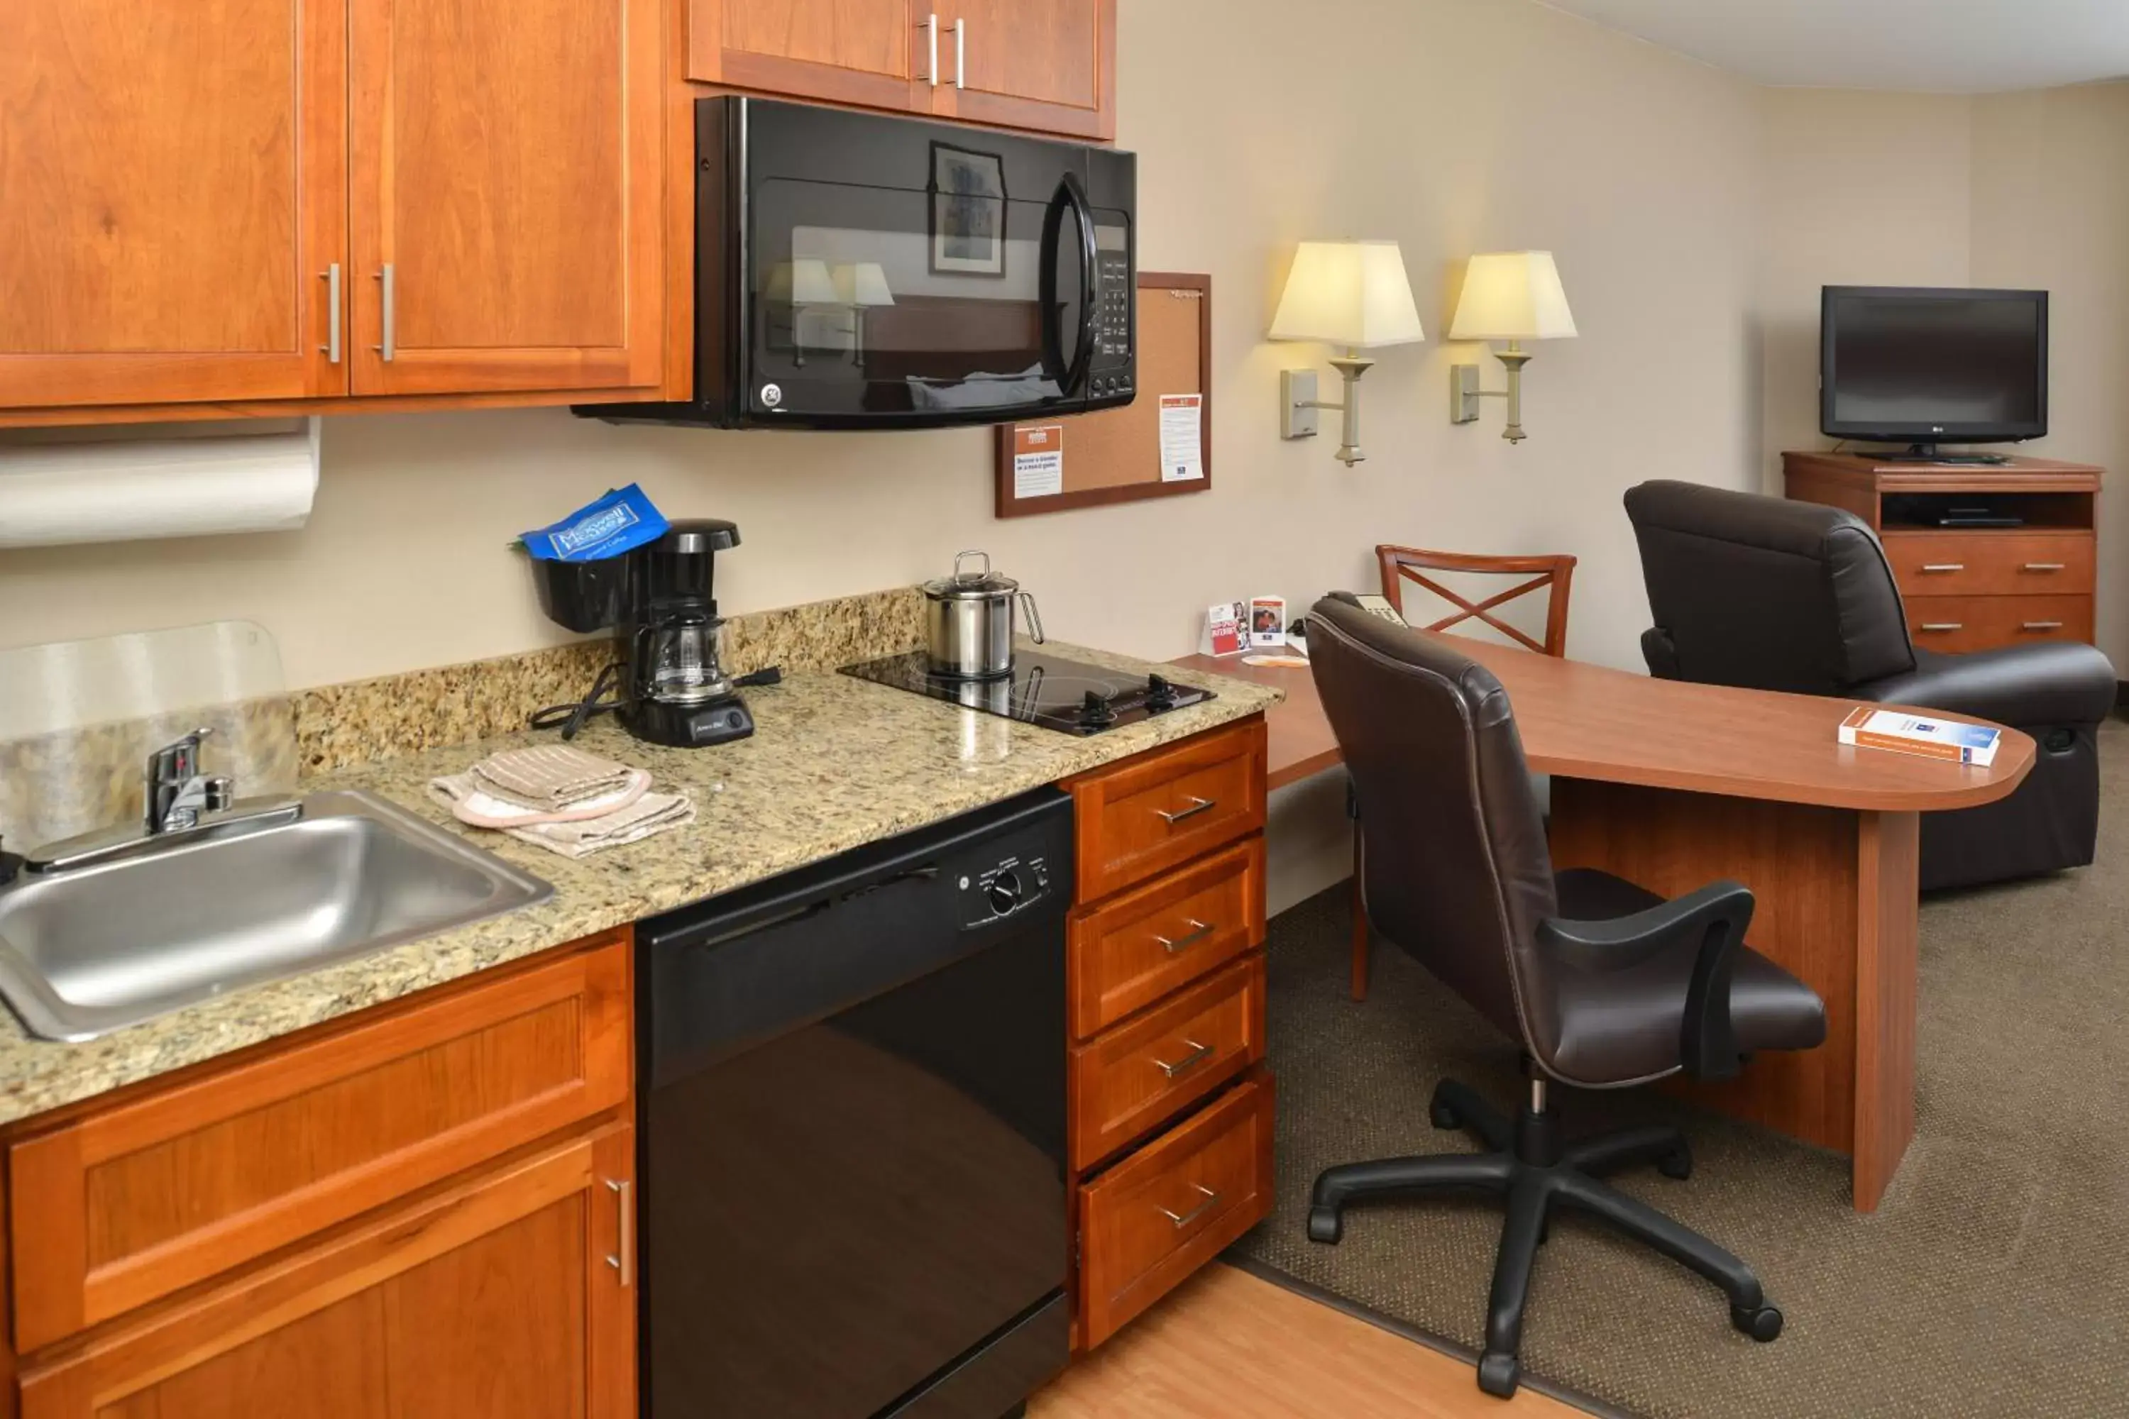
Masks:
[[[1314,438],[1316,411],[1337,408],[1346,415],[1337,460],[1352,468],[1367,457],[1360,453],[1360,377],[1375,364],[1360,351],[1426,338],[1397,243],[1301,243],[1294,266],[1286,272],[1280,313],[1271,317],[1271,338],[1346,347],[1343,355],[1331,357],[1346,381],[1339,404],[1316,398],[1316,370],[1280,370],[1280,438]]]

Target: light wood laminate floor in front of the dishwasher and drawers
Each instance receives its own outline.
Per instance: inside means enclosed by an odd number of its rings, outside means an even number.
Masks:
[[[1028,1419],[1586,1419],[1233,1266],[1207,1266],[1028,1404]]]

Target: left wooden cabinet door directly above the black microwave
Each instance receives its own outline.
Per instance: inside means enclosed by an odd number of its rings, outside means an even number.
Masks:
[[[688,77],[930,113],[937,9],[939,0],[690,0]],[[952,60],[941,64],[954,72]]]

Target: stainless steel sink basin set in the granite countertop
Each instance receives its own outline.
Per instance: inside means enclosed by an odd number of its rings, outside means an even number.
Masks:
[[[0,887],[0,996],[30,1034],[89,1040],[554,896],[370,794]]]

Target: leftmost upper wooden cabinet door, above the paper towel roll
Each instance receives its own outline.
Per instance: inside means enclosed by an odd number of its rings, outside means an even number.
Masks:
[[[0,406],[347,389],[345,4],[0,4]]]

